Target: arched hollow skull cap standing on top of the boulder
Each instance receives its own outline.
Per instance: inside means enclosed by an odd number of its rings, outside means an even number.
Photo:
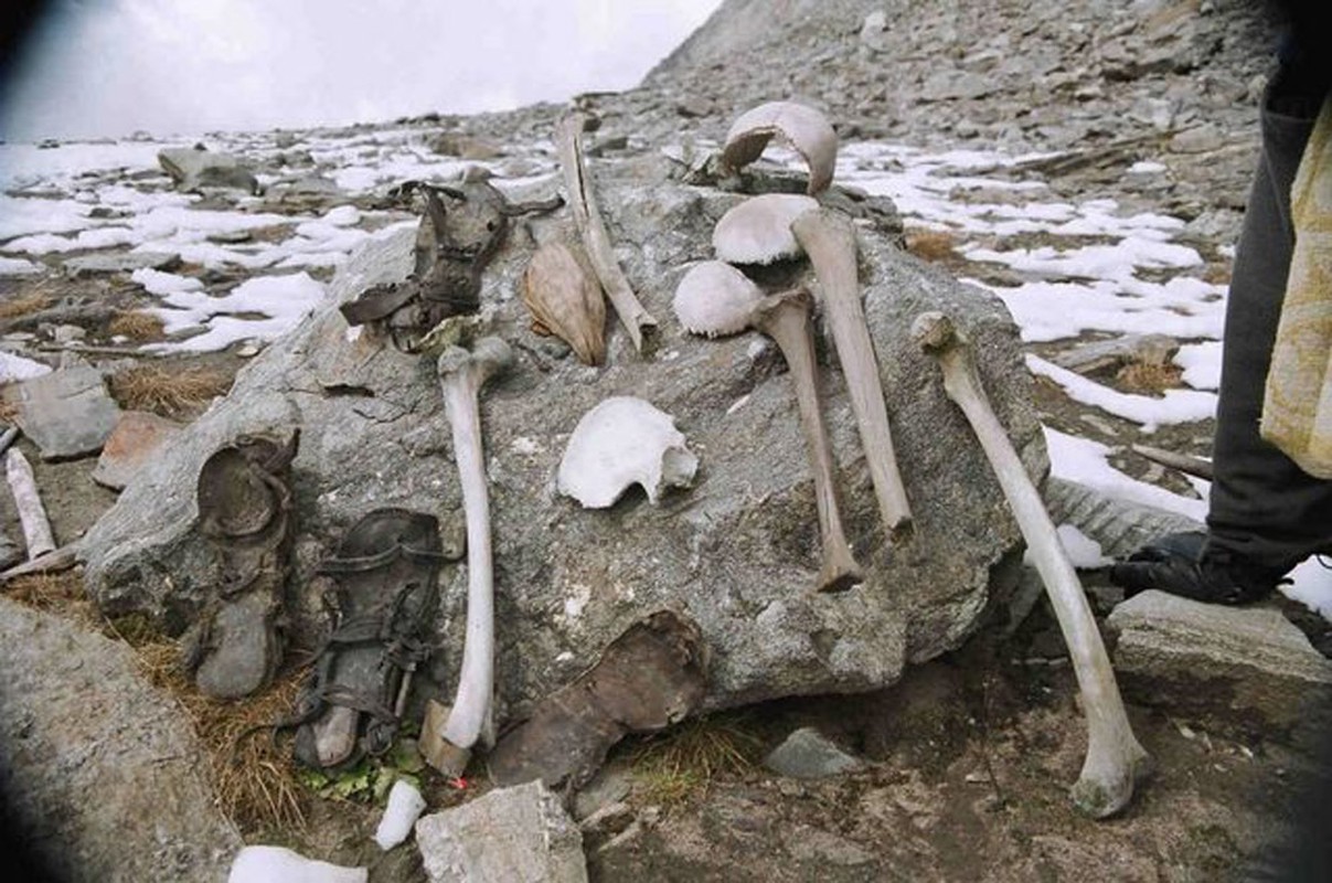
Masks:
[[[821,112],[794,101],[769,101],[742,113],[731,124],[722,147],[722,165],[749,165],[777,136],[805,157],[810,168],[809,193],[827,189],[836,166],[836,132]]]

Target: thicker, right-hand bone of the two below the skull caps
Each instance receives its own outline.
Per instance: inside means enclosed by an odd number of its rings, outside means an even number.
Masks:
[[[874,495],[879,501],[879,514],[883,515],[891,538],[911,523],[911,506],[906,487],[902,486],[892,430],[888,428],[888,410],[883,404],[879,361],[874,354],[874,341],[870,340],[870,326],[860,304],[855,228],[847,216],[818,208],[795,218],[791,232],[810,256],[819,281],[823,314],[832,328],[832,342],[836,344],[842,373],[846,374]]]

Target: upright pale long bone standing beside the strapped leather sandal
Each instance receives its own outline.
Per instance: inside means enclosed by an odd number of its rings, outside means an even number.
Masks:
[[[453,426],[453,458],[458,465],[462,507],[468,522],[468,623],[462,666],[453,706],[444,717],[438,703],[426,713],[421,754],[445,775],[462,775],[472,747],[490,722],[494,693],[494,569],[490,551],[490,493],[477,397],[485,382],[507,369],[513,350],[498,337],[482,337],[469,353],[450,346],[437,369],[445,412]]]

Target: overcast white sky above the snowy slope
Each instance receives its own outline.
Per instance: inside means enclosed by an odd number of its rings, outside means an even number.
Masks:
[[[0,137],[474,113],[625,89],[721,0],[57,0]]]

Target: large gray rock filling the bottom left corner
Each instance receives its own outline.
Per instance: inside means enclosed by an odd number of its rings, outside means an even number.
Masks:
[[[226,879],[217,808],[180,706],[124,643],[0,598],[0,792],[60,880]]]

